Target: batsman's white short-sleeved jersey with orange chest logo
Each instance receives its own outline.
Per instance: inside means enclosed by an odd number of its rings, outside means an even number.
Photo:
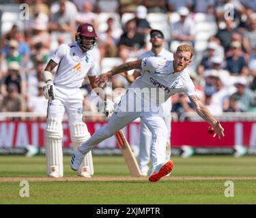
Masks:
[[[53,80],[57,87],[79,88],[85,76],[96,76],[93,57],[77,43],[62,44],[51,59],[58,64]]]

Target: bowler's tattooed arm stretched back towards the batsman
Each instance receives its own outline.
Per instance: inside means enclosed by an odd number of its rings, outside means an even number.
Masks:
[[[114,76],[116,74],[129,71],[131,69],[141,69],[141,59],[137,61],[129,61],[126,63],[122,63],[122,65],[119,65],[117,67],[114,67],[109,72],[106,72],[104,74],[101,74],[96,79],[96,82],[98,84],[98,87],[104,87],[106,82],[109,80],[109,77]]]

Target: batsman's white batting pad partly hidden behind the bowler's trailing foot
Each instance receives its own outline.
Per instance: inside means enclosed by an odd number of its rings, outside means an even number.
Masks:
[[[85,123],[78,122],[70,126],[70,138],[72,140],[74,151],[76,151],[76,149],[80,146],[80,144],[85,140],[87,140],[90,136],[91,134],[89,134],[87,125]],[[85,155],[85,158],[81,163],[81,168],[79,168],[79,170],[77,171],[77,174],[79,176],[83,176],[83,174],[86,174],[85,172],[88,172],[89,175],[94,174],[94,163],[92,160],[91,151],[89,151],[89,153]]]

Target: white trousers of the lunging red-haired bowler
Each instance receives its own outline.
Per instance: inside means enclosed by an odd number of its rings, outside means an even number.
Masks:
[[[119,109],[119,106],[116,109]],[[106,140],[106,138],[113,136],[117,131],[138,117],[141,117],[152,132],[152,167],[155,168],[157,165],[165,163],[167,127],[164,119],[162,118],[162,114],[152,112],[122,112],[120,110],[115,110],[109,119],[109,123],[98,129],[91,138],[83,142],[79,147],[79,150],[81,153],[86,155],[94,148],[94,146],[103,140]]]

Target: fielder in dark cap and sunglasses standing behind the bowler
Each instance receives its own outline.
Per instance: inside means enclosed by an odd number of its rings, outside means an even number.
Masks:
[[[173,53],[165,50],[163,44],[165,43],[165,36],[162,31],[158,29],[152,29],[150,31],[150,42],[152,43],[152,49],[143,53],[138,59],[145,57],[162,57],[162,59],[173,61]],[[134,82],[134,79],[141,76],[141,70],[135,69],[134,73],[126,78],[129,82]],[[166,102],[160,105],[163,110],[163,119],[167,125],[167,146],[166,146],[166,160],[171,159],[171,98],[169,97]],[[139,168],[141,170],[141,176],[147,176],[152,174],[149,172],[150,163],[150,150],[152,144],[152,133],[143,120],[141,120],[141,135],[139,140]],[[152,169],[152,168],[151,168]]]

